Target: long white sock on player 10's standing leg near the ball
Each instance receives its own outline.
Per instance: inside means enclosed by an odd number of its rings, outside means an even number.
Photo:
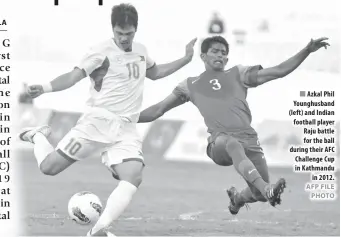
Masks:
[[[120,181],[115,190],[110,194],[107,205],[92,228],[91,234],[94,235],[96,232],[108,228],[114,220],[117,220],[129,205],[136,191],[137,188],[133,184],[127,181]]]

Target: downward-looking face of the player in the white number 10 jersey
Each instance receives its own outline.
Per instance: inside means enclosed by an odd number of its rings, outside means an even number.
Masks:
[[[124,51],[131,51],[136,28],[132,25],[126,25],[123,28],[115,25],[113,31],[116,44]]]

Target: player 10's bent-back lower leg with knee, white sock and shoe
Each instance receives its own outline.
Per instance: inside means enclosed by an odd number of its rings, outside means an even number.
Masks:
[[[34,144],[34,155],[41,172],[46,175],[56,175],[73,164],[75,160],[65,159],[55,151],[47,140],[50,134],[51,128],[44,125],[24,129],[19,134],[19,138]]]

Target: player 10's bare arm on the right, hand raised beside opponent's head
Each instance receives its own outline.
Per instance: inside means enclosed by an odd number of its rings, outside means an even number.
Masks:
[[[184,57],[170,63],[154,65],[153,67],[147,69],[146,77],[151,80],[158,80],[173,74],[174,72],[187,65],[193,58],[193,47],[196,41],[197,39],[195,38],[186,45],[186,54]]]

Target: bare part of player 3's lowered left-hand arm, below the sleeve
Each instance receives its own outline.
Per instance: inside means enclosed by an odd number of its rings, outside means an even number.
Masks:
[[[148,123],[152,122],[158,118],[160,118],[162,115],[164,115],[167,111],[182,105],[185,103],[180,97],[178,97],[176,94],[171,93],[169,96],[167,96],[163,101],[154,104],[147,109],[143,110],[140,113],[140,118],[138,123]]]

